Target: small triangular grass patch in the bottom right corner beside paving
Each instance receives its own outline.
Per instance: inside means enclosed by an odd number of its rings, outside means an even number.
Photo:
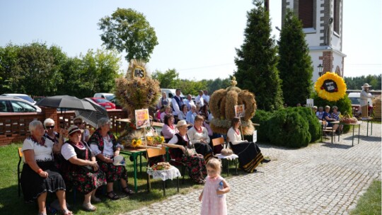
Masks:
[[[381,214],[381,181],[374,180],[366,193],[359,198],[357,207],[350,214]]]

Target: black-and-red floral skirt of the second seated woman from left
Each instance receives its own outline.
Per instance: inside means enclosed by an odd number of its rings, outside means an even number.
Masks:
[[[74,170],[66,172],[65,180],[68,182],[68,186],[83,194],[88,194],[98,187],[106,185],[105,173],[102,170],[93,171],[85,166],[76,166]]]

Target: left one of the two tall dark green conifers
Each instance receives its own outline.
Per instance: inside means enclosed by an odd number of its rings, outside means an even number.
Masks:
[[[270,14],[262,1],[254,0],[253,4],[255,8],[247,13],[244,43],[236,49],[238,70],[234,76],[238,87],[255,93],[257,108],[277,110],[282,107],[282,91],[276,68],[277,47],[270,37]]]

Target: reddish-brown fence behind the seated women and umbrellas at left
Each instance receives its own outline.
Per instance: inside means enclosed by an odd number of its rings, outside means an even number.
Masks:
[[[117,122],[118,119],[127,118],[127,111],[108,110],[108,116],[112,122],[112,132],[122,132],[125,127]],[[57,112],[55,108],[42,108],[42,112],[23,112],[23,113],[0,113],[0,146],[24,141],[25,137],[30,135],[29,123],[33,120],[44,122],[51,118],[56,125],[65,125],[66,128],[73,125],[73,119],[76,117],[74,111]],[[94,128],[88,126],[91,134]],[[56,132],[59,126],[54,127]]]

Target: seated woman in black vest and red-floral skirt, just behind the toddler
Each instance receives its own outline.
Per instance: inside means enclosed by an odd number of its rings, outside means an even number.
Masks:
[[[176,124],[179,132],[176,133],[166,146],[170,147],[171,158],[175,161],[182,162],[188,170],[190,178],[199,183],[203,184],[204,175],[207,174],[206,162],[201,154],[195,153],[193,155],[186,155],[186,149],[192,148],[190,139],[187,135],[187,122],[185,120],[178,121]]]

